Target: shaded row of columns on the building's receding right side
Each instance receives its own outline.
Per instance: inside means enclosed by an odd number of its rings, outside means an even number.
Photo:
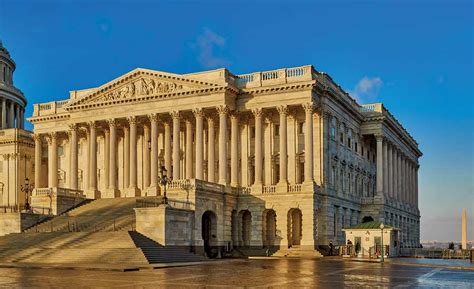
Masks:
[[[418,167],[397,145],[382,135],[377,142],[377,195],[418,207]]]

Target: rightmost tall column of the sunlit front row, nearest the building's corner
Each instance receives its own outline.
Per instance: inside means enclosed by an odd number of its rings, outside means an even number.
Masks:
[[[305,134],[304,134],[304,177],[305,182],[314,182],[313,178],[313,104],[303,105],[305,110]]]

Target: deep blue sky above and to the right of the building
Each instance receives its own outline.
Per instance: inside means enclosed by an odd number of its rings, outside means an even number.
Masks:
[[[32,103],[136,67],[240,74],[312,64],[362,102],[383,102],[424,152],[424,240],[458,240],[463,207],[474,239],[473,27],[471,1],[0,0],[0,39],[28,116]]]

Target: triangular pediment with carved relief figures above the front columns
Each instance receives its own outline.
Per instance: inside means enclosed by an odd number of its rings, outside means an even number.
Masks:
[[[69,101],[64,108],[120,101],[161,94],[189,92],[221,85],[191,79],[179,74],[137,68],[94,90],[90,94]]]

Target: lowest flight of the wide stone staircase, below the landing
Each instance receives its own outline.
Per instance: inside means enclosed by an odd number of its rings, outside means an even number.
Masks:
[[[0,262],[148,264],[126,231],[10,234],[0,238]]]

